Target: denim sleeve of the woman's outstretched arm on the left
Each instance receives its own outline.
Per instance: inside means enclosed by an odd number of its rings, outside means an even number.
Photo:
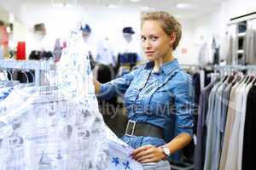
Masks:
[[[100,93],[97,95],[98,99],[110,99],[114,95],[125,94],[126,89],[130,86],[134,77],[137,76],[139,68],[125,74],[123,77],[113,79],[110,82],[101,85]]]

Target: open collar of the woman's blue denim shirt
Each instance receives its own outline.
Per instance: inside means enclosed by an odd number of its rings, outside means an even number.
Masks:
[[[150,61],[146,64],[146,69],[153,69],[154,67],[154,61]],[[172,59],[172,61],[169,61],[163,65],[160,66],[160,73],[164,73],[166,76],[170,75],[172,71],[177,69],[179,67],[179,64],[177,62],[177,59]]]

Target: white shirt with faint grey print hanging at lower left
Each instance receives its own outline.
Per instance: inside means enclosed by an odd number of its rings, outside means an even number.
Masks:
[[[91,114],[84,105],[60,98],[60,92],[34,95],[4,120],[1,118],[6,126],[13,127],[13,133],[1,145],[3,169],[82,170],[89,169],[90,164],[91,168],[101,165],[96,162],[108,164],[102,117]]]

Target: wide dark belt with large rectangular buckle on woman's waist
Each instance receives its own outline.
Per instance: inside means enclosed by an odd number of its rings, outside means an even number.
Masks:
[[[128,121],[125,131],[126,136],[150,136],[164,139],[164,130],[145,122]]]

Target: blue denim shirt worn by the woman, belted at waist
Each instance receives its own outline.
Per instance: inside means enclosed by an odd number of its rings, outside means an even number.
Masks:
[[[148,62],[123,77],[102,84],[100,97],[124,95],[128,119],[147,122],[161,127],[169,142],[179,133],[193,131],[194,86],[191,77],[183,71],[177,59],[153,71],[154,62]],[[134,148],[147,144],[161,145],[162,139],[147,137],[123,137]]]

